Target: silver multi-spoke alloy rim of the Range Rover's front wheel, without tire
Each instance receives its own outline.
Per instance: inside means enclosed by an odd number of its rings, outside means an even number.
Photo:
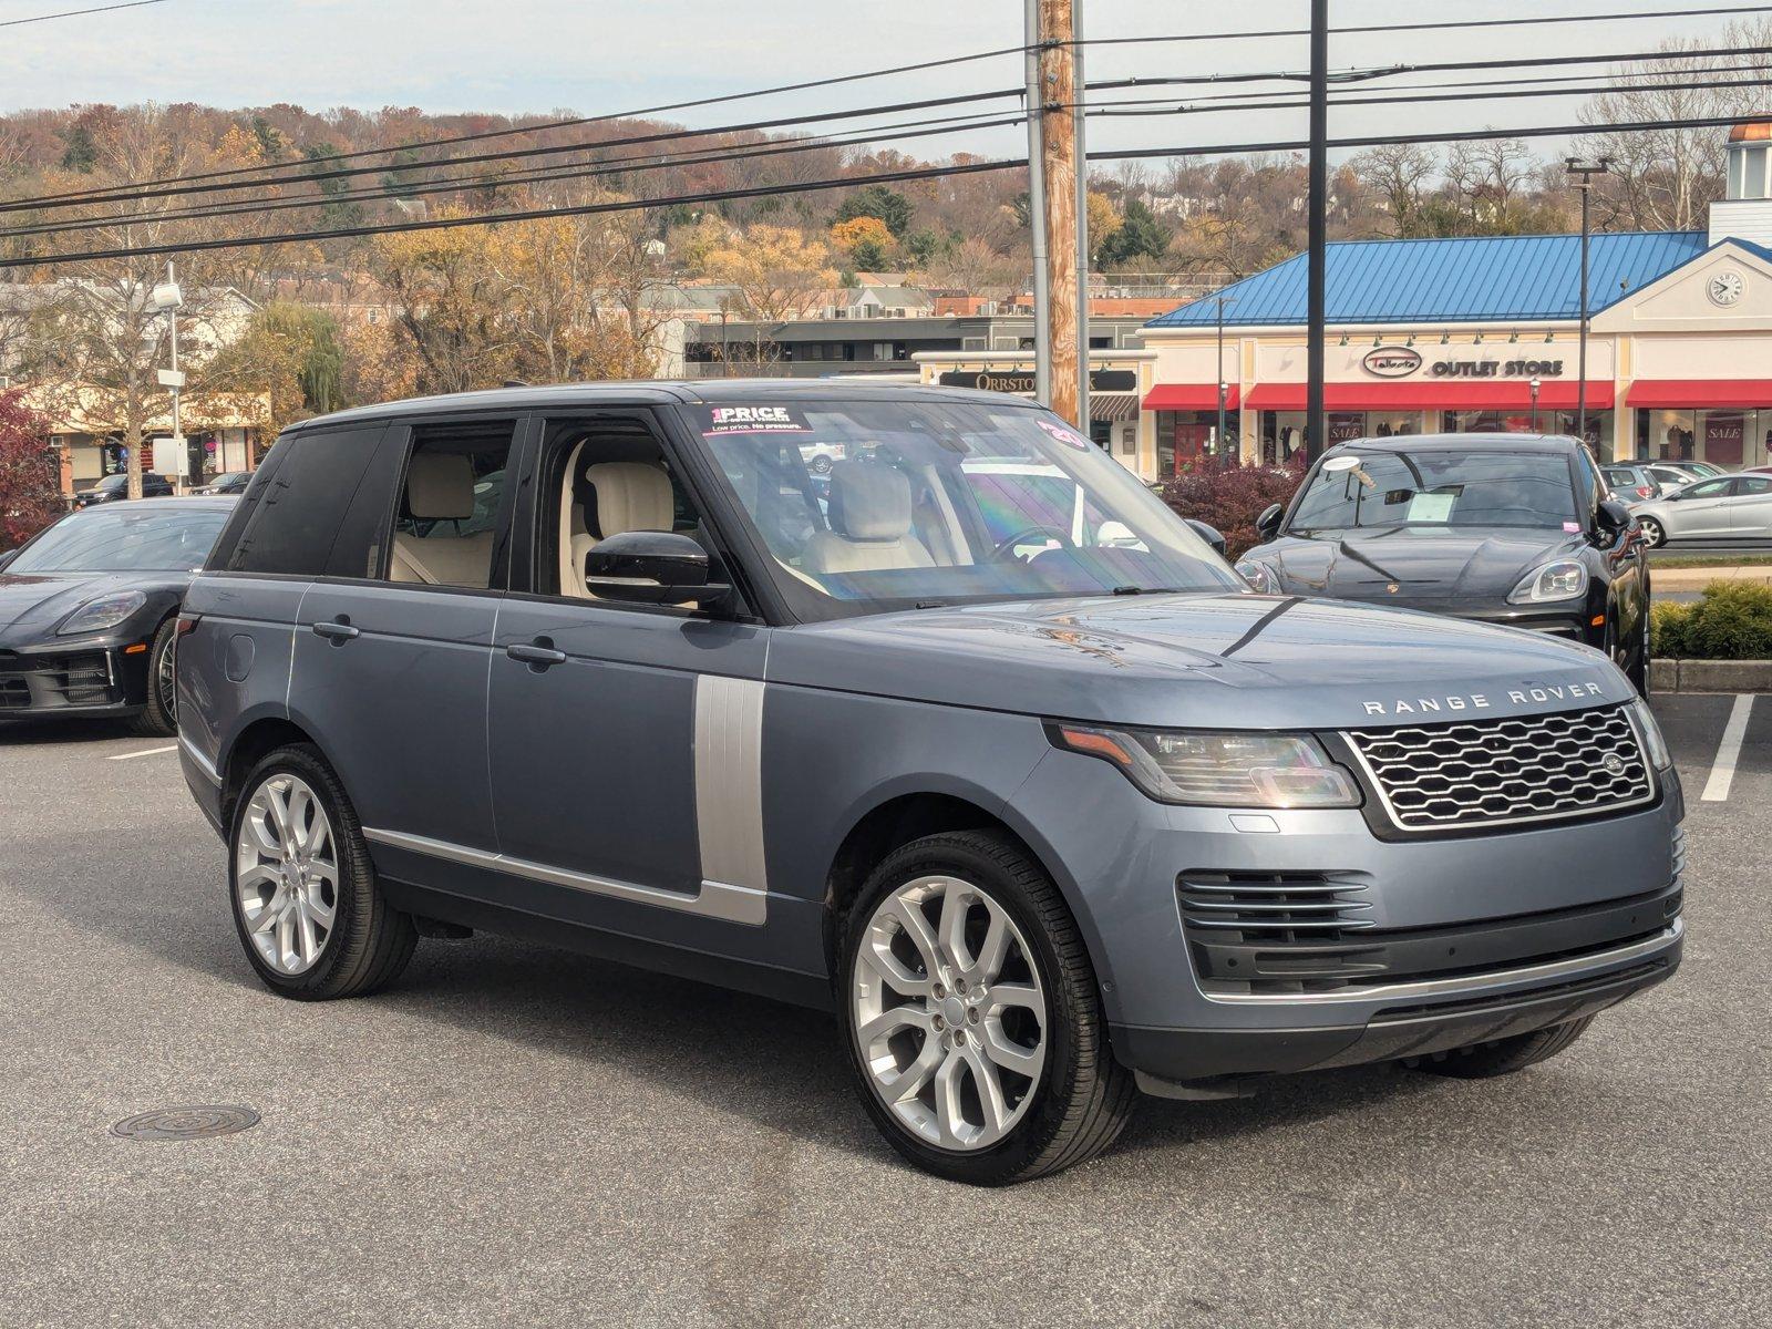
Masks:
[[[911,1134],[968,1152],[1015,1129],[1049,1017],[1033,948],[1001,904],[959,877],[905,882],[868,918],[852,989],[868,1083]]]

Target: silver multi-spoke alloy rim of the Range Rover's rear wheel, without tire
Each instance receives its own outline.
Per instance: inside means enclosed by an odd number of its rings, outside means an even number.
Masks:
[[[331,820],[301,776],[269,776],[246,803],[234,845],[234,893],[246,936],[276,973],[314,968],[338,913]]]

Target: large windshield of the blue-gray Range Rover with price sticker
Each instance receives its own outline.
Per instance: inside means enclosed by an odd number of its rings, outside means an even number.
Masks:
[[[1045,411],[907,399],[688,415],[801,617],[1242,588],[1131,471]]]

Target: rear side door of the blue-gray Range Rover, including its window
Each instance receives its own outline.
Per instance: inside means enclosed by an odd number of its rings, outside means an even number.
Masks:
[[[330,574],[301,601],[289,712],[319,737],[377,863],[388,847],[496,852],[486,675],[519,425],[471,416],[390,429]]]

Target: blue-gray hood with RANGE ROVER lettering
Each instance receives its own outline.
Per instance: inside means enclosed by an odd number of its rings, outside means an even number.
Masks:
[[[1636,693],[1602,654],[1512,627],[1297,595],[982,604],[774,633],[769,680],[1177,728],[1540,714]]]

